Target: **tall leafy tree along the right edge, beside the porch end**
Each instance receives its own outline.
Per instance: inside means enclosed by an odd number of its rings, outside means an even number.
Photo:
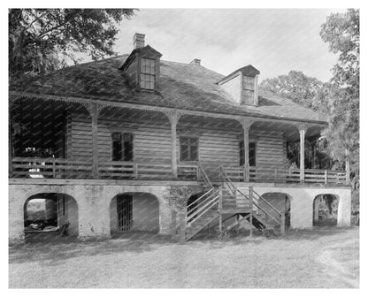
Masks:
[[[334,155],[343,160],[350,151],[351,170],[359,175],[359,10],[333,13],[321,27],[320,35],[330,50],[339,54],[333,78],[316,100],[326,106],[329,129],[326,137]]]

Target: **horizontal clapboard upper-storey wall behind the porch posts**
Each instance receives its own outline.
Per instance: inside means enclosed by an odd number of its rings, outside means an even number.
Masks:
[[[92,159],[91,119],[82,114],[68,117],[68,157]],[[111,132],[134,133],[134,161],[139,163],[171,164],[171,126],[164,116],[98,118],[98,156],[100,161],[111,161]],[[240,126],[205,125],[200,121],[180,120],[177,126],[177,156],[180,162],[180,137],[199,139],[199,161],[206,165],[238,166]],[[249,141],[257,143],[257,166],[282,167],[286,162],[285,136],[279,131],[250,129]]]

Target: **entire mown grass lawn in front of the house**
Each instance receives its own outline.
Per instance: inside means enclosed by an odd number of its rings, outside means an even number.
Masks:
[[[9,249],[9,286],[341,288],[359,286],[359,229],[318,227],[283,237],[154,236],[27,243]]]

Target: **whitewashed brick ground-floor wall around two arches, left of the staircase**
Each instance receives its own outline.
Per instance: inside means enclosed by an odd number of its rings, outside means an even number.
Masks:
[[[117,194],[147,193],[157,198],[159,233],[171,232],[171,209],[168,186],[97,186],[97,185],[9,185],[9,240],[24,240],[24,204],[34,194],[59,193],[71,196],[65,200],[65,215],[59,224],[69,221],[71,231],[80,239],[109,238],[111,235],[111,200]],[[166,197],[166,198],[165,198]],[[116,202],[115,202],[116,203]],[[116,204],[115,204],[116,205]],[[61,209],[58,209],[60,211]],[[112,219],[114,219],[112,217]]]

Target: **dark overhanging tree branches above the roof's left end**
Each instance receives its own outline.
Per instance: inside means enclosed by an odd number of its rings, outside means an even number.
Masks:
[[[11,78],[76,63],[76,53],[95,60],[113,55],[116,25],[133,15],[133,9],[10,9]]]

